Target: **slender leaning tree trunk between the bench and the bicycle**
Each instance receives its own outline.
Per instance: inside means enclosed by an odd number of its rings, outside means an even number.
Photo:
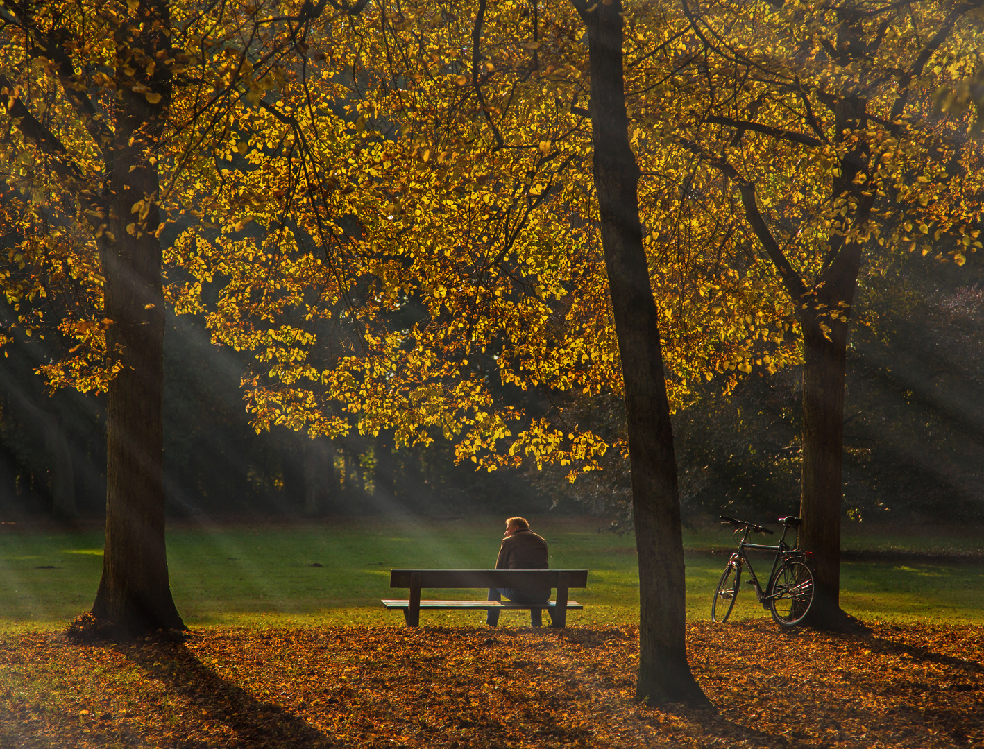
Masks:
[[[639,551],[637,699],[707,703],[687,663],[680,496],[658,312],[639,221],[639,166],[629,144],[622,4],[579,7],[587,26],[594,185],[622,359],[633,516]]]

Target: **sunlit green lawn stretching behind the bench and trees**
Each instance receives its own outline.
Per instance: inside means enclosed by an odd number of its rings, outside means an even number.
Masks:
[[[635,541],[630,535],[598,532],[600,524],[589,518],[543,518],[533,528],[550,542],[552,567],[590,570],[588,588],[572,592],[585,609],[573,611],[571,623],[635,622]],[[92,605],[102,564],[101,531],[9,528],[0,533],[0,629],[61,627]],[[846,528],[844,547],[967,552],[984,546],[980,535],[968,531],[948,535],[939,529],[916,537],[904,529],[860,532],[866,530]],[[389,588],[392,567],[490,567],[501,535],[499,518],[172,527],[167,538],[171,589],[192,627],[399,625],[400,613],[379,603],[405,595]],[[685,533],[684,546],[700,549],[687,555],[687,613],[707,619],[710,594],[735,542],[726,529],[707,524]],[[770,562],[762,559],[757,571],[768,577]],[[768,616],[752,589],[746,590],[733,615]],[[984,563],[845,562],[841,604],[869,620],[982,623]],[[480,611],[425,612],[422,623],[474,625],[482,618]],[[503,617],[507,625],[524,621],[521,612]]]

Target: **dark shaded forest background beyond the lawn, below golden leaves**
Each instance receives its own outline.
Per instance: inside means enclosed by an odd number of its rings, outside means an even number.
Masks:
[[[848,360],[844,512],[877,522],[984,521],[984,290],[981,270],[921,257],[870,271]],[[97,517],[104,503],[104,400],[53,396],[33,370],[43,340],[0,359],[0,513]],[[172,515],[318,516],[552,509],[625,519],[629,472],[609,451],[605,470],[570,484],[560,471],[474,471],[450,445],[394,449],[392,436],[311,440],[249,425],[245,361],[211,344],[194,317],[167,320],[165,471]],[[685,514],[796,512],[798,370],[753,373],[730,395],[707,383],[675,416]],[[582,424],[617,436],[617,398],[566,404]],[[566,469],[564,470],[566,473]]]

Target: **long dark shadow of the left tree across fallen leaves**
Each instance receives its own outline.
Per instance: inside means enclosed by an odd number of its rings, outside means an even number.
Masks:
[[[338,743],[301,718],[272,703],[262,702],[205,665],[183,643],[120,644],[116,650],[159,681],[168,694],[186,699],[190,710],[185,725],[195,718],[224,723],[235,732],[237,747],[334,747]],[[191,714],[191,715],[189,715]],[[205,747],[208,737],[189,735],[182,749]]]

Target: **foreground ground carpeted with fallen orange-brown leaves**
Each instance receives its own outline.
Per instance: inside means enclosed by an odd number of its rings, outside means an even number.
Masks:
[[[984,743],[984,628],[688,625],[716,710],[633,701],[638,631],[206,629],[0,642],[2,747],[930,747]],[[2,638],[0,638],[2,639]]]

